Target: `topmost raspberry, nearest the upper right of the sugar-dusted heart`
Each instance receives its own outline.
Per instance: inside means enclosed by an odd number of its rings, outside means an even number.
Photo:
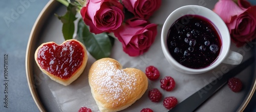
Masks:
[[[147,66],[147,68],[146,68],[146,76],[150,80],[156,80],[156,79],[159,78],[160,73],[157,70],[157,68],[155,68],[155,66]]]

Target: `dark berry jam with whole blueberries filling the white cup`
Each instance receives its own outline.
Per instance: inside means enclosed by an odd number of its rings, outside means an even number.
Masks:
[[[169,29],[169,53],[180,64],[192,69],[209,66],[219,56],[222,44],[214,25],[199,15],[184,15]]]

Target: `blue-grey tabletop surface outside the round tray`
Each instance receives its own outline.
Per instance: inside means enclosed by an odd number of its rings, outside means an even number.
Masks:
[[[24,5],[25,1],[27,3]],[[256,4],[256,1],[250,1]],[[0,111],[39,111],[29,91],[25,57],[31,29],[47,3],[46,0],[0,1]],[[17,14],[13,15],[13,11]],[[11,18],[9,23],[6,18]],[[5,54],[8,54],[8,108],[3,103]],[[246,111],[256,111],[255,104],[256,94]]]

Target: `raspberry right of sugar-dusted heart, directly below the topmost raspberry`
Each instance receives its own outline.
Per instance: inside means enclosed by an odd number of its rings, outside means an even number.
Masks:
[[[152,102],[159,102],[162,99],[162,94],[157,88],[153,88],[148,91],[148,98],[150,98]]]

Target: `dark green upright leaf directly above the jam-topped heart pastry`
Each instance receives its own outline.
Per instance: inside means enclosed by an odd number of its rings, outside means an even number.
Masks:
[[[63,23],[62,34],[63,34],[65,40],[73,38],[73,34],[75,31],[74,21],[76,20],[76,16],[75,16],[76,8],[77,8],[76,6],[69,4],[65,15],[59,16],[59,15],[55,14],[55,16],[57,16],[58,19],[60,19],[61,22]]]

